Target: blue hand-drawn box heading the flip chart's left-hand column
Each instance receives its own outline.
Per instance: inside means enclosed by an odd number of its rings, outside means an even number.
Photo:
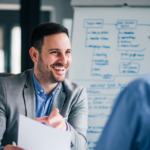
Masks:
[[[102,28],[103,19],[85,19],[83,23],[84,28]]]

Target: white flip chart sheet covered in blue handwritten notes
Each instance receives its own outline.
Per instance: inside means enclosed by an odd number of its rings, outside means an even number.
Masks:
[[[149,8],[75,8],[69,79],[87,88],[88,150],[94,149],[118,93],[150,73],[149,14]]]

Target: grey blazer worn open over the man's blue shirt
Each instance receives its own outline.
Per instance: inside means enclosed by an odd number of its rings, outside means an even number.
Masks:
[[[85,88],[65,79],[50,112],[54,108],[60,110],[71,126],[71,150],[86,149],[88,105]],[[0,79],[0,150],[12,141],[17,143],[19,114],[35,118],[32,70]]]

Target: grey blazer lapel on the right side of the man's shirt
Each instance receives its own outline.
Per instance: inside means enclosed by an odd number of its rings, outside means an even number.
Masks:
[[[51,109],[50,109],[50,113],[52,112],[53,109],[58,108],[59,112],[61,114],[61,110],[64,104],[66,98],[66,93],[63,91],[63,86],[62,83],[60,85],[59,90],[56,92],[56,95],[54,97]]]

